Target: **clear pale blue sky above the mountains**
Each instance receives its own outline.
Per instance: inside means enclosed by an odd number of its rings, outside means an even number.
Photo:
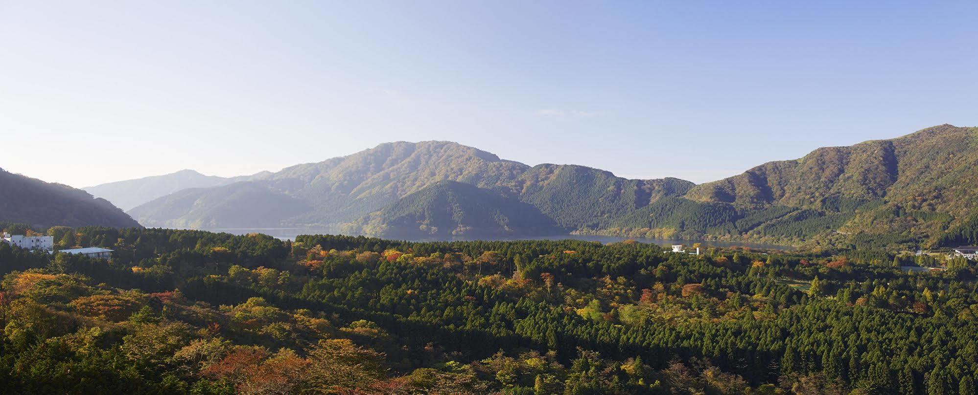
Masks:
[[[941,123],[974,0],[0,0],[0,167],[75,187],[397,140],[705,182]]]

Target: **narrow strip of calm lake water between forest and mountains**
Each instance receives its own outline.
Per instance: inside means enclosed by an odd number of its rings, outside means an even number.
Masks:
[[[335,228],[257,228],[257,229],[244,229],[244,228],[223,228],[223,229],[205,229],[209,232],[226,232],[234,235],[246,235],[249,233],[261,233],[269,235],[274,238],[282,240],[295,240],[298,235],[340,235]],[[355,236],[355,235],[354,235]],[[658,240],[658,239],[642,239],[642,238],[623,238],[617,236],[600,236],[600,235],[556,235],[556,236],[538,236],[538,237],[522,237],[522,238],[493,238],[488,239],[492,241],[520,241],[520,240],[579,240],[579,241],[600,241],[600,242],[615,242],[615,241],[625,241],[634,240],[645,243],[659,244],[659,245],[671,245],[671,244],[686,244],[692,245],[694,242],[699,242],[704,246],[746,246],[751,248],[775,248],[775,249],[794,249],[788,245],[777,245],[777,244],[765,244],[758,242],[740,242],[740,241],[704,241],[704,240]],[[452,239],[415,239],[411,241],[474,241],[474,240],[487,240],[485,238],[452,238]]]

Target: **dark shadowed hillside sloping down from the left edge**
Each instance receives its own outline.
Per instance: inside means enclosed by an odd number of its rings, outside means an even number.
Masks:
[[[62,184],[46,183],[0,169],[0,221],[35,229],[55,225],[139,227],[104,198]]]

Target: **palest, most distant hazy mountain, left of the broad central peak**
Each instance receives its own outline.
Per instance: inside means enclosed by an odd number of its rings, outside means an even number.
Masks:
[[[180,170],[161,176],[143,177],[135,180],[116,181],[95,187],[82,188],[97,198],[105,198],[123,210],[129,210],[155,198],[162,198],[188,188],[206,188],[244,181],[251,177],[205,176],[194,170]]]

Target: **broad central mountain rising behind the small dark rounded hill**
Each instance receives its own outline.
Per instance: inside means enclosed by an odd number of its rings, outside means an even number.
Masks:
[[[678,179],[627,180],[574,165],[530,167],[451,142],[397,142],[238,183],[253,187],[247,190],[236,184],[184,191],[157,198],[129,213],[147,226],[226,228],[230,219],[218,213],[270,207],[274,200],[276,204],[289,202],[289,209],[279,213],[279,225],[363,225],[377,223],[379,214],[373,219],[362,217],[442,181],[469,184],[508,198],[499,201],[529,203],[564,231],[598,229],[621,213],[663,196],[683,194],[693,185]],[[252,226],[259,226],[259,222],[270,226],[275,220],[252,212],[235,222],[251,219]],[[390,227],[386,229],[393,232]]]

